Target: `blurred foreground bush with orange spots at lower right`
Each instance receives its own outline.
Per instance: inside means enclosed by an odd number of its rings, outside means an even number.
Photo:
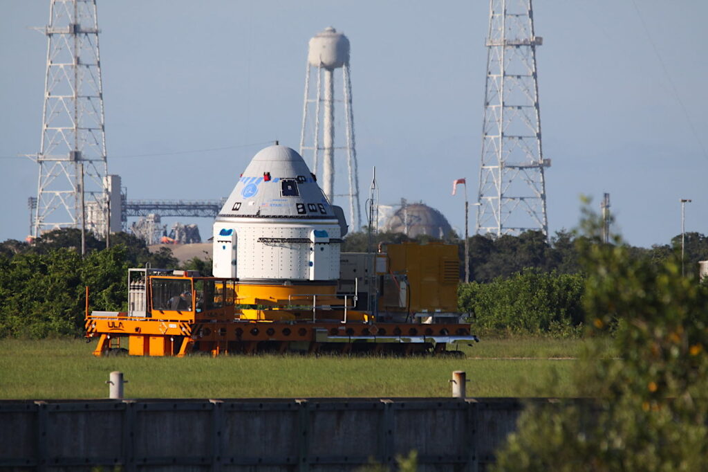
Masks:
[[[586,220],[596,234],[597,220]],[[581,245],[590,335],[614,330],[619,359],[589,349],[578,369],[592,406],[530,409],[498,471],[699,471],[708,457],[708,289],[680,257]]]

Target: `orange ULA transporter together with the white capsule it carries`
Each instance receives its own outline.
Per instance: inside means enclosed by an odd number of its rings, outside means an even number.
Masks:
[[[346,232],[302,157],[267,147],[215,220],[215,276],[130,269],[127,312],[89,313],[87,301],[86,336],[97,356],[440,354],[477,340],[457,313],[455,245],[341,253]]]

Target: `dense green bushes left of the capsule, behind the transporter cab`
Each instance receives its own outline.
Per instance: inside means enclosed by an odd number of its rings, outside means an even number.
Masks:
[[[77,336],[84,330],[86,286],[91,309],[127,308],[130,266],[174,268],[169,248],[151,253],[142,240],[125,233],[113,247],[91,235],[81,258],[81,232],[47,232],[33,245],[8,240],[0,245],[0,337]]]

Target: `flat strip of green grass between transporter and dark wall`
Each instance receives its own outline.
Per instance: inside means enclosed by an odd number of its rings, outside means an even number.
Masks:
[[[1,399],[106,398],[122,371],[126,398],[446,397],[455,370],[475,397],[572,396],[578,339],[484,339],[466,358],[300,355],[91,355],[81,340],[0,340]],[[552,381],[555,379],[555,381]]]

